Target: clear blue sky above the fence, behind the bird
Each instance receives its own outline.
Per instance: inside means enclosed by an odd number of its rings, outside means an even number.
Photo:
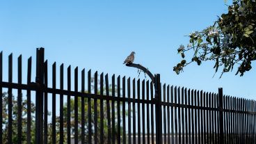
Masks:
[[[235,72],[221,79],[220,73],[213,77],[214,63],[189,65],[179,75],[173,72],[173,66],[181,60],[177,47],[188,42],[184,35],[204,29],[226,11],[223,0],[4,0],[0,2],[0,50],[7,63],[11,52],[14,58],[22,54],[24,60],[29,56],[35,60],[35,48],[45,47],[49,63],[132,78],[138,77],[137,70],[122,62],[135,51],[134,63],[161,74],[163,83],[209,92],[223,87],[225,95],[255,99],[255,63],[243,77],[234,76]]]

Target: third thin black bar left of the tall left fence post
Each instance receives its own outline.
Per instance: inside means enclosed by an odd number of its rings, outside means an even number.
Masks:
[[[13,82],[13,54],[8,57],[8,82]],[[13,88],[8,88],[8,143],[13,143]]]

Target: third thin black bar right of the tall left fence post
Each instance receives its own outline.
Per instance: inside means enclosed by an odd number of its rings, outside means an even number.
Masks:
[[[60,67],[60,89],[63,90],[63,70],[64,65],[61,64]],[[64,141],[64,131],[63,131],[63,95],[60,95],[60,144]]]

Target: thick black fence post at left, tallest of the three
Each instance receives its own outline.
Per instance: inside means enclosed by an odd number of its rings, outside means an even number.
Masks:
[[[39,87],[35,93],[35,143],[42,144],[43,129],[43,84],[44,84],[44,59],[45,49],[36,49],[36,77],[35,83]]]

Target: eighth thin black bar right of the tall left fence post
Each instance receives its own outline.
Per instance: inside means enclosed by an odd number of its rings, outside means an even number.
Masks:
[[[96,71],[94,74],[94,94],[98,93],[98,72]],[[97,114],[97,98],[93,100],[94,102],[94,143],[98,143],[98,114]]]

